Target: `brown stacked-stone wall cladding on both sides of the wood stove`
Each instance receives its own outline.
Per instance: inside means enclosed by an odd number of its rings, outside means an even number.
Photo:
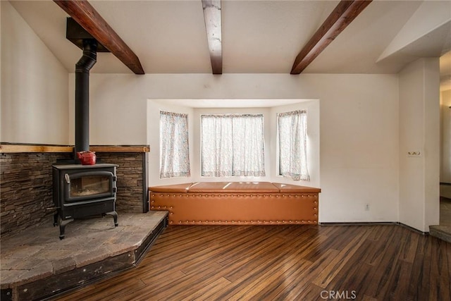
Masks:
[[[0,154],[0,237],[53,223],[52,164],[70,159],[68,153]],[[147,202],[145,153],[98,153],[102,163],[118,164],[116,211],[141,213]]]

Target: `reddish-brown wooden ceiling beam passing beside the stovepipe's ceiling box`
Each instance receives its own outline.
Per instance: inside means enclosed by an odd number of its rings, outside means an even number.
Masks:
[[[88,1],[76,0],[54,0],[58,6],[63,8],[70,17],[85,28],[97,42],[104,45],[121,62],[135,74],[144,74],[140,60],[130,47],[123,42],[121,37],[106,23],[104,18],[89,4]]]

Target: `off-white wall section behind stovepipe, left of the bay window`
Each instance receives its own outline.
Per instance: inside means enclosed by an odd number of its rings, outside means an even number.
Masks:
[[[81,57],[80,52],[80,57]],[[75,65],[74,65],[75,66]],[[147,144],[147,98],[139,75],[89,75],[89,144]],[[75,143],[75,74],[69,75],[69,142]]]

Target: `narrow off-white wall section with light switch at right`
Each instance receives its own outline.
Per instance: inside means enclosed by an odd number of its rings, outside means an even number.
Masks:
[[[424,232],[439,220],[438,70],[419,59],[400,73],[400,222]]]

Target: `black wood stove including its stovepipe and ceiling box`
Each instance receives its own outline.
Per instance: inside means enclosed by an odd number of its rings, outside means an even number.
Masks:
[[[89,151],[89,70],[97,62],[97,50],[104,47],[72,18],[67,19],[66,38],[83,50],[75,64],[75,147],[74,155]],[[100,45],[100,49],[99,49]],[[105,51],[108,51],[104,49]],[[66,225],[73,219],[97,214],[116,213],[116,164],[54,164],[54,226],[59,225],[59,238],[64,238]]]

